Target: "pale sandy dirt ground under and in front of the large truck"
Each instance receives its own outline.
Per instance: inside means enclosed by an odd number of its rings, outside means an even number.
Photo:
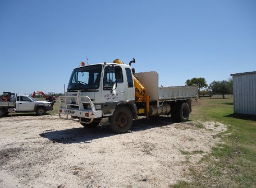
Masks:
[[[203,128],[202,128],[203,127]],[[220,140],[216,122],[138,119],[128,133],[58,115],[0,118],[0,187],[168,187]]]

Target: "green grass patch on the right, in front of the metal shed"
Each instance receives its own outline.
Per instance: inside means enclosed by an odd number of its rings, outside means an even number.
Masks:
[[[220,122],[228,130],[218,134],[222,143],[190,170],[189,187],[256,187],[256,117],[233,114],[231,97],[201,98],[193,104],[190,120]],[[176,187],[188,184],[178,182]]]

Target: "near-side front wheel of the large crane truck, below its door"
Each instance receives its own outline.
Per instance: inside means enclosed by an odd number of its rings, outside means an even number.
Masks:
[[[132,126],[132,113],[126,106],[117,108],[112,117],[109,128],[115,133],[125,133]]]

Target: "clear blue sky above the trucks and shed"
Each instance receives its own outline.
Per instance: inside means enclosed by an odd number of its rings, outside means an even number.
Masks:
[[[63,93],[86,57],[164,86],[256,71],[256,1],[0,0],[0,93]]]

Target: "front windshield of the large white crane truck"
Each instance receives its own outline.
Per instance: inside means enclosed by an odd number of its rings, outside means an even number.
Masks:
[[[68,91],[97,89],[100,86],[102,65],[88,65],[75,69],[69,79]]]

